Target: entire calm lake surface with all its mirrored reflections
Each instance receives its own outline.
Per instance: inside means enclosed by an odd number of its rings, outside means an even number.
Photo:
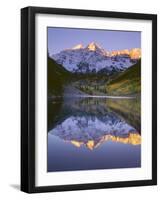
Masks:
[[[48,172],[141,167],[140,99],[48,101]]]

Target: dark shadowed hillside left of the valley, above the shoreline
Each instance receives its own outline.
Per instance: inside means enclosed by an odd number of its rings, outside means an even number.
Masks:
[[[70,78],[70,72],[48,57],[48,94],[61,95],[65,83]]]

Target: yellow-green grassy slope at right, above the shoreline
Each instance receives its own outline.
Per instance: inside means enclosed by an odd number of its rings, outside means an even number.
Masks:
[[[109,95],[132,95],[141,92],[141,60],[107,84]]]

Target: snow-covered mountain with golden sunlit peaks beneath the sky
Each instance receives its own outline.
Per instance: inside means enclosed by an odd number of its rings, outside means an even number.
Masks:
[[[140,49],[109,52],[96,42],[86,47],[78,44],[65,49],[51,57],[72,73],[105,73],[120,72],[132,66],[141,56]]]

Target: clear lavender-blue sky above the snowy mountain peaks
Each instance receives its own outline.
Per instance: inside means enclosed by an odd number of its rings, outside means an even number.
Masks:
[[[92,41],[108,51],[141,48],[141,32],[48,28],[48,50],[50,55],[72,48],[77,44],[87,46]]]

